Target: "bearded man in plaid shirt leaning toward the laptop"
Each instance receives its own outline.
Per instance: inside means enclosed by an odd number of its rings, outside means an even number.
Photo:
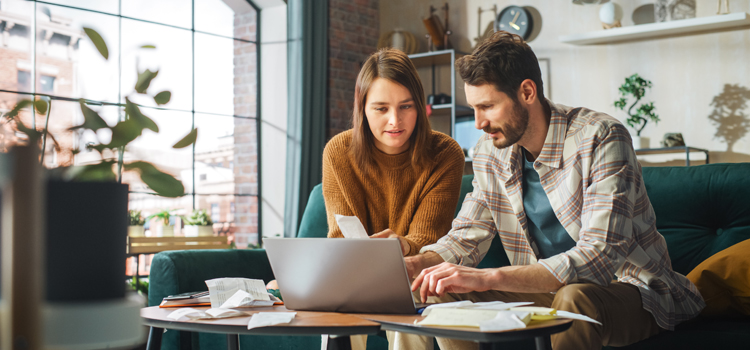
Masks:
[[[546,100],[536,56],[516,35],[495,33],[456,66],[486,135],[453,228],[406,258],[422,300],[533,301],[603,324],[574,321],[554,349],[624,346],[696,316],[705,304],[672,271],[625,127]],[[512,266],[473,268],[495,235]]]

